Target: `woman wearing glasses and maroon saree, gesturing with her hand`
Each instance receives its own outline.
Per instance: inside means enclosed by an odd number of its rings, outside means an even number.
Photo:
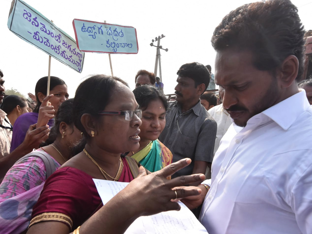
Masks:
[[[123,233],[141,215],[178,210],[171,199],[200,193],[197,188],[172,188],[202,180],[202,174],[166,179],[190,159],[144,176],[146,171],[133,158],[121,156],[139,148],[138,107],[119,78],[95,75],[79,85],[73,115],[83,133],[83,151],[47,179],[27,233]],[[103,206],[93,178],[132,182]]]

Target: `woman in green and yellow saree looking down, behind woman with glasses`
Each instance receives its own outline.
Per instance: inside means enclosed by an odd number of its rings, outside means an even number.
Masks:
[[[155,172],[172,162],[172,153],[158,140],[166,125],[167,99],[154,86],[139,86],[133,93],[142,110],[141,140],[139,149],[129,152],[128,156],[132,155],[150,172]]]

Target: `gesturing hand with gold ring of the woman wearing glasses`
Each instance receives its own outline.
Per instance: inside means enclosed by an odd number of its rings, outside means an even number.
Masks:
[[[140,167],[139,176],[117,195],[122,196],[125,201],[131,201],[130,203],[133,204],[130,204],[128,207],[135,207],[136,212],[134,211],[134,213],[139,214],[139,216],[152,215],[169,210],[180,210],[181,207],[176,198],[199,195],[201,189],[193,186],[179,186],[202,181],[205,179],[205,175],[180,176],[171,180],[167,180],[167,177],[190,163],[191,159],[182,159],[149,175],[146,175],[144,168]]]

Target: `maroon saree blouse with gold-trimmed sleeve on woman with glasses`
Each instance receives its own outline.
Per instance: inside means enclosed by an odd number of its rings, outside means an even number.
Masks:
[[[119,182],[130,182],[138,175],[138,163],[122,157],[124,168]],[[33,208],[30,225],[41,221],[59,221],[75,230],[102,207],[92,177],[79,169],[64,167],[47,180]]]

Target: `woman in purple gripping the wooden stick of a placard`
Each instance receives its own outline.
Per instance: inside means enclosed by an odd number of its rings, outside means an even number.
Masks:
[[[59,106],[62,104],[63,101],[68,99],[68,92],[67,92],[67,85],[65,84],[64,80],[61,80],[60,78],[56,76],[50,77],[50,94],[53,94],[51,98],[49,98],[49,102],[51,103],[51,106],[42,107],[41,103],[46,98],[46,90],[47,90],[47,83],[48,83],[48,77],[42,77],[37,81],[36,87],[35,87],[35,95],[37,99],[37,105],[32,113],[27,113],[24,115],[21,115],[18,117],[15,121],[14,128],[13,128],[13,134],[12,134],[12,141],[11,141],[11,149],[10,152],[12,152],[14,149],[19,146],[26,135],[26,132],[30,125],[37,123],[38,121],[38,115],[39,115],[39,109],[41,106],[41,112],[42,115],[46,114],[44,112],[48,112],[47,114],[52,117],[51,119],[48,119],[47,124],[51,128],[54,124],[54,115],[56,115],[56,112],[59,108]],[[45,124],[42,124],[41,127]]]

